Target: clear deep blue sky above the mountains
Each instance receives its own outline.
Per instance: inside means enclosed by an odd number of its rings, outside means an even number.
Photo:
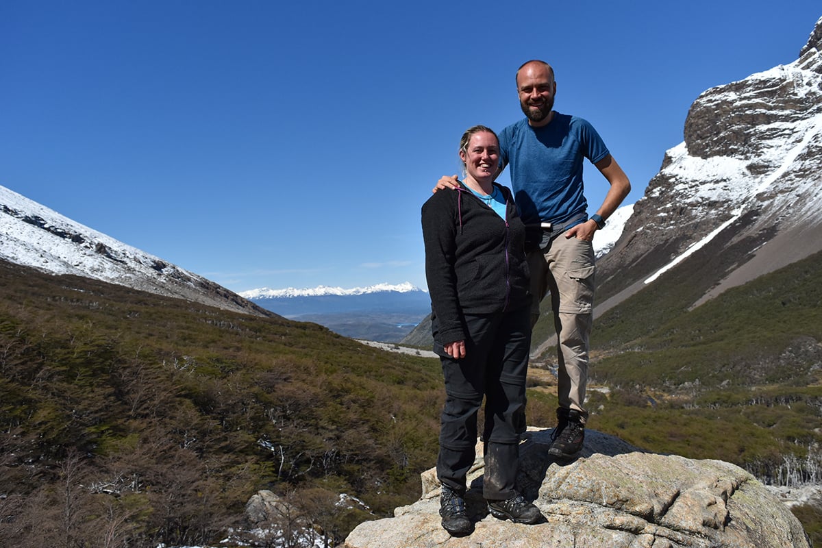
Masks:
[[[797,58],[791,2],[0,2],[0,185],[233,291],[425,287],[465,128],[556,70],[639,200],[704,90]],[[607,183],[593,167],[592,209]],[[507,182],[507,175],[501,177]]]

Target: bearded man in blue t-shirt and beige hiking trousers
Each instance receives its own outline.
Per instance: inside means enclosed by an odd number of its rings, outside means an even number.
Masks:
[[[593,234],[628,196],[630,182],[589,122],[553,110],[556,81],[547,62],[524,63],[516,84],[525,118],[500,133],[500,171],[510,167],[515,202],[534,234],[528,250],[532,327],[539,319],[539,303],[551,292],[559,408],[549,454],[569,459],[582,449],[588,420],[584,400],[593,325]],[[582,178],[585,158],[611,186],[590,218]],[[454,179],[443,177],[437,186],[451,187]]]

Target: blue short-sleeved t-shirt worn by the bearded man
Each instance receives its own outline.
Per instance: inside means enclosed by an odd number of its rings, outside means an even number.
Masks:
[[[580,214],[587,219],[583,159],[597,163],[608,154],[593,126],[568,114],[555,112],[545,127],[531,127],[523,118],[500,132],[501,163],[510,169],[514,201],[525,224],[559,225]]]

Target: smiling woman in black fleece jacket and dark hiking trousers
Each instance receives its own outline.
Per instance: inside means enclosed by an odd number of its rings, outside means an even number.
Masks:
[[[426,278],[434,350],[446,382],[437,477],[442,527],[471,532],[466,476],[474,461],[477,416],[485,403],[483,496],[496,518],[536,523],[542,514],[515,490],[531,339],[525,227],[506,187],[493,182],[499,141],[487,127],[459,143],[464,182],[423,205]]]

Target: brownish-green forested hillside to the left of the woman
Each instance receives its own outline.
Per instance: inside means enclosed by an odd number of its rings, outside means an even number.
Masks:
[[[442,398],[436,360],[0,262],[0,546],[216,544],[260,489],[340,538],[418,497]]]

